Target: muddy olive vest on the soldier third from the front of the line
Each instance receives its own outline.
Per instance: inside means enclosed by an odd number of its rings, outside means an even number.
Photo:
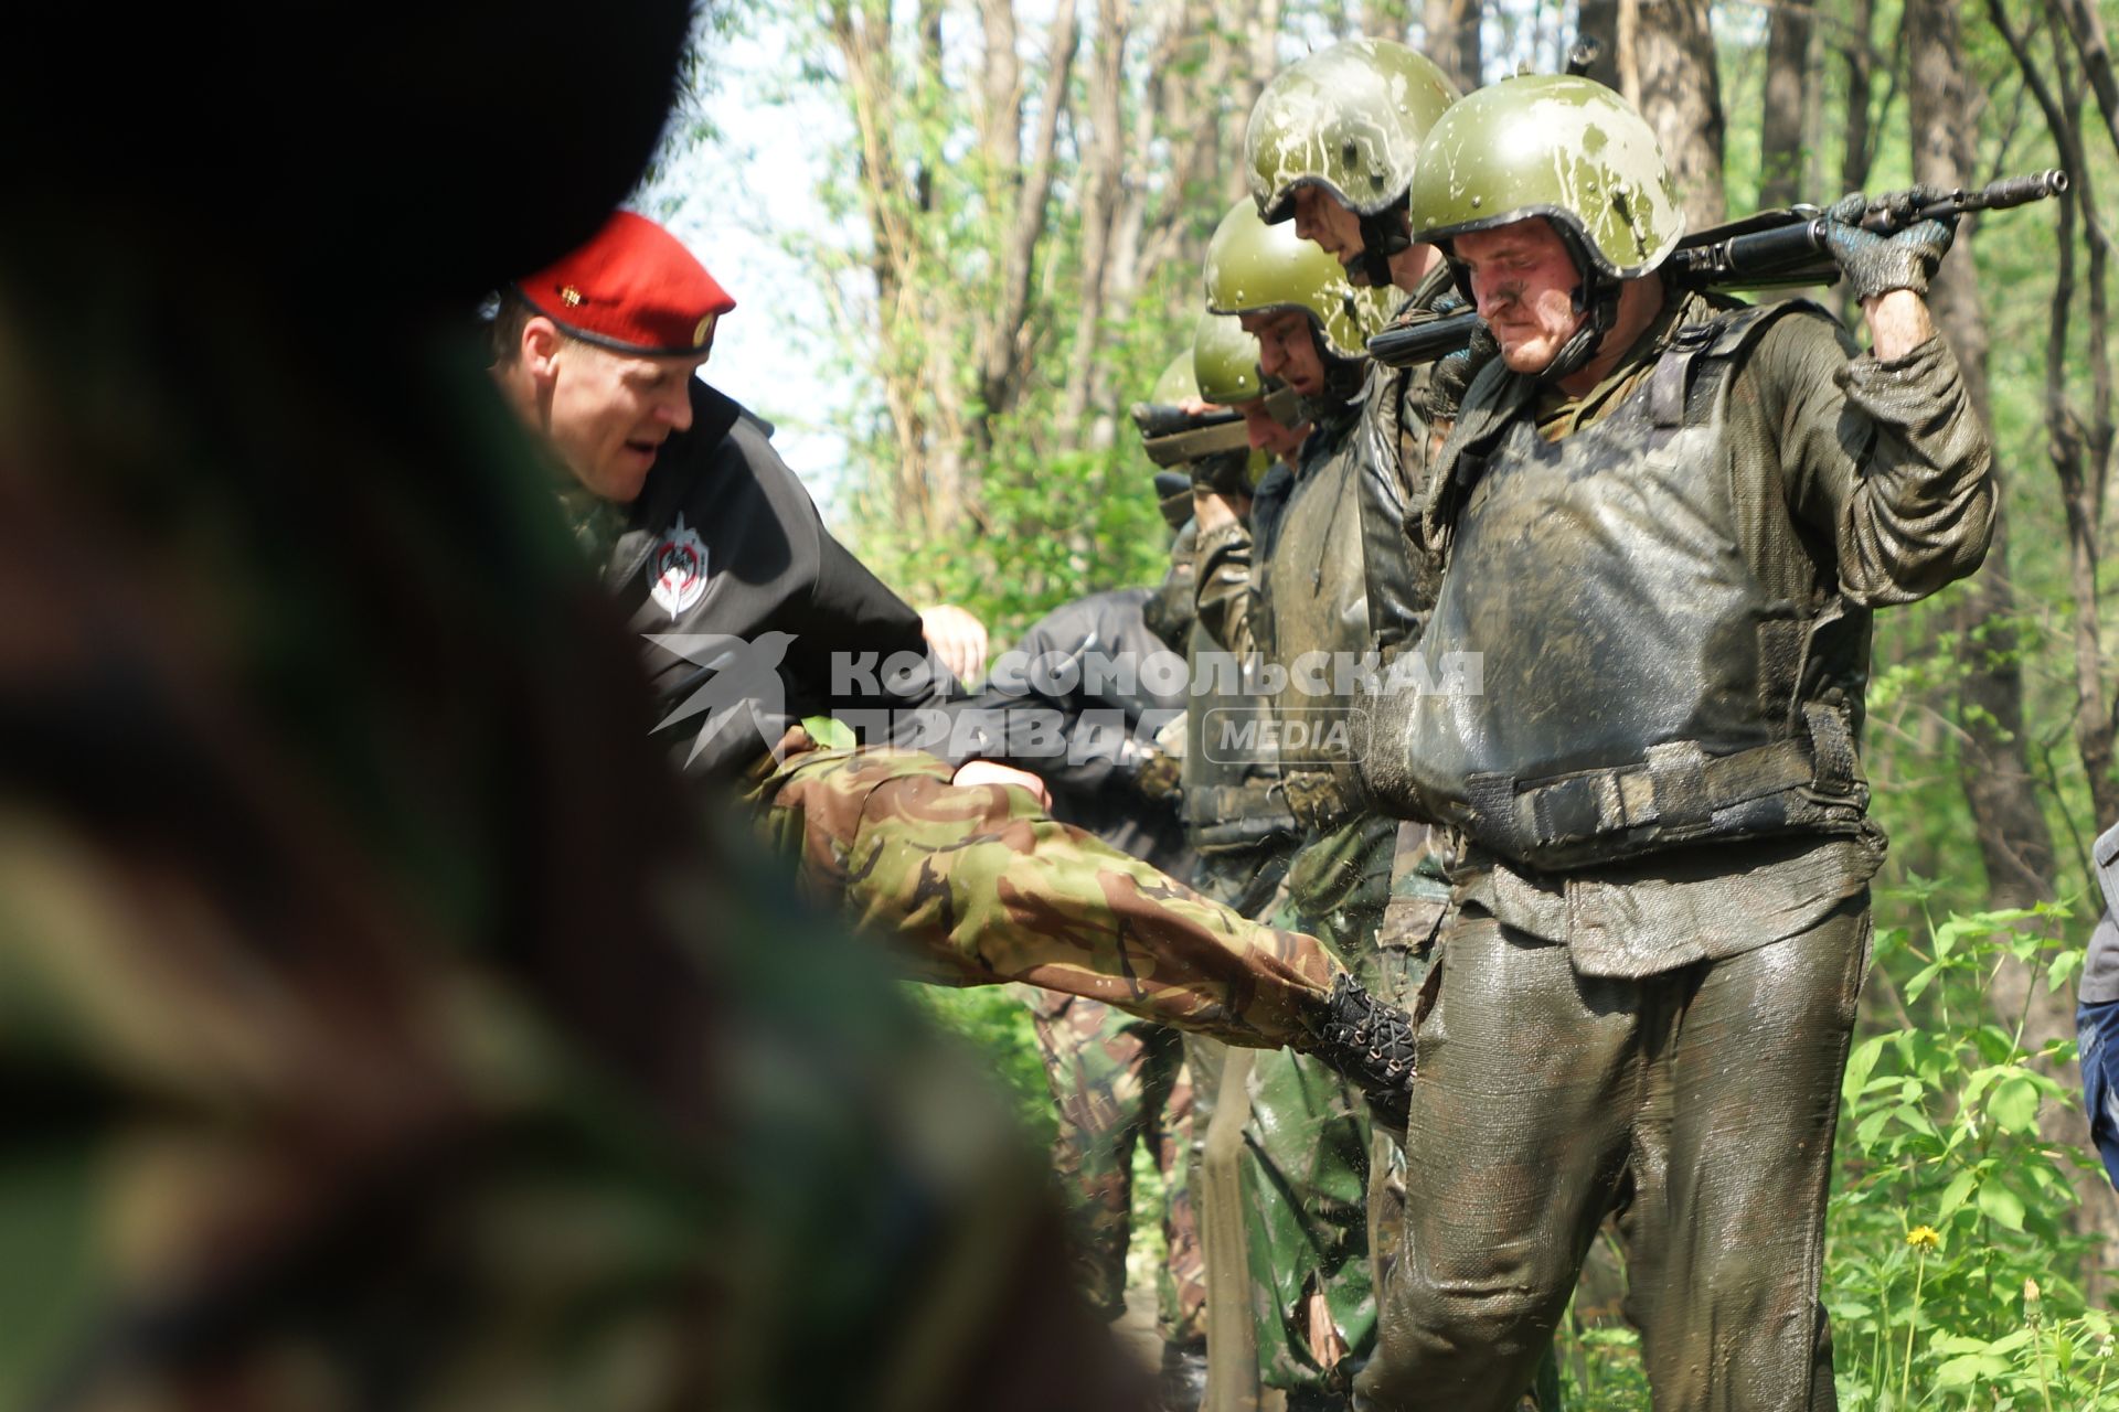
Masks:
[[[1343,406],[1303,445],[1303,474],[1259,572],[1267,660],[1286,669],[1274,699],[1280,768],[1295,813],[1312,828],[1343,819],[1360,798],[1354,758],[1367,739],[1346,669],[1371,650],[1360,546],[1360,409]],[[1346,688],[1346,690],[1341,690]]]

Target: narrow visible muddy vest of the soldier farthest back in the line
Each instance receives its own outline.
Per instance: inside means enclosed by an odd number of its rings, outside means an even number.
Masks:
[[[1185,656],[1193,665],[1180,775],[1185,840],[1199,853],[1216,853],[1293,834],[1295,815],[1280,794],[1280,758],[1265,730],[1271,718],[1265,699],[1246,694],[1221,671],[1199,671],[1201,658],[1227,658],[1204,624],[1191,624]]]

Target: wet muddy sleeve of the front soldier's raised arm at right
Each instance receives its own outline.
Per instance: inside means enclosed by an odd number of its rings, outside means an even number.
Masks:
[[[1761,411],[1780,430],[1795,517],[1829,533],[1839,589],[1911,603],[1979,567],[1994,531],[1992,451],[1941,337],[1877,362],[1820,318],[1759,347]]]

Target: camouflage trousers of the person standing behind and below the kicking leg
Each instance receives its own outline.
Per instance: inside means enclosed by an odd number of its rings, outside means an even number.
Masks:
[[[1030,993],[1045,1080],[1060,1109],[1053,1166],[1074,1217],[1074,1268],[1106,1319],[1125,1313],[1134,1147],[1163,1177],[1157,1323],[1163,1342],[1206,1338],[1206,1260],[1193,1213],[1193,1080],[1174,1029],[1081,995]]]

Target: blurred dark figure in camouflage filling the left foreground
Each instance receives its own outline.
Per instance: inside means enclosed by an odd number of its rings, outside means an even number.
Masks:
[[[0,59],[0,1406],[1142,1406],[971,1065],[667,779],[460,343],[687,6],[263,15]]]

